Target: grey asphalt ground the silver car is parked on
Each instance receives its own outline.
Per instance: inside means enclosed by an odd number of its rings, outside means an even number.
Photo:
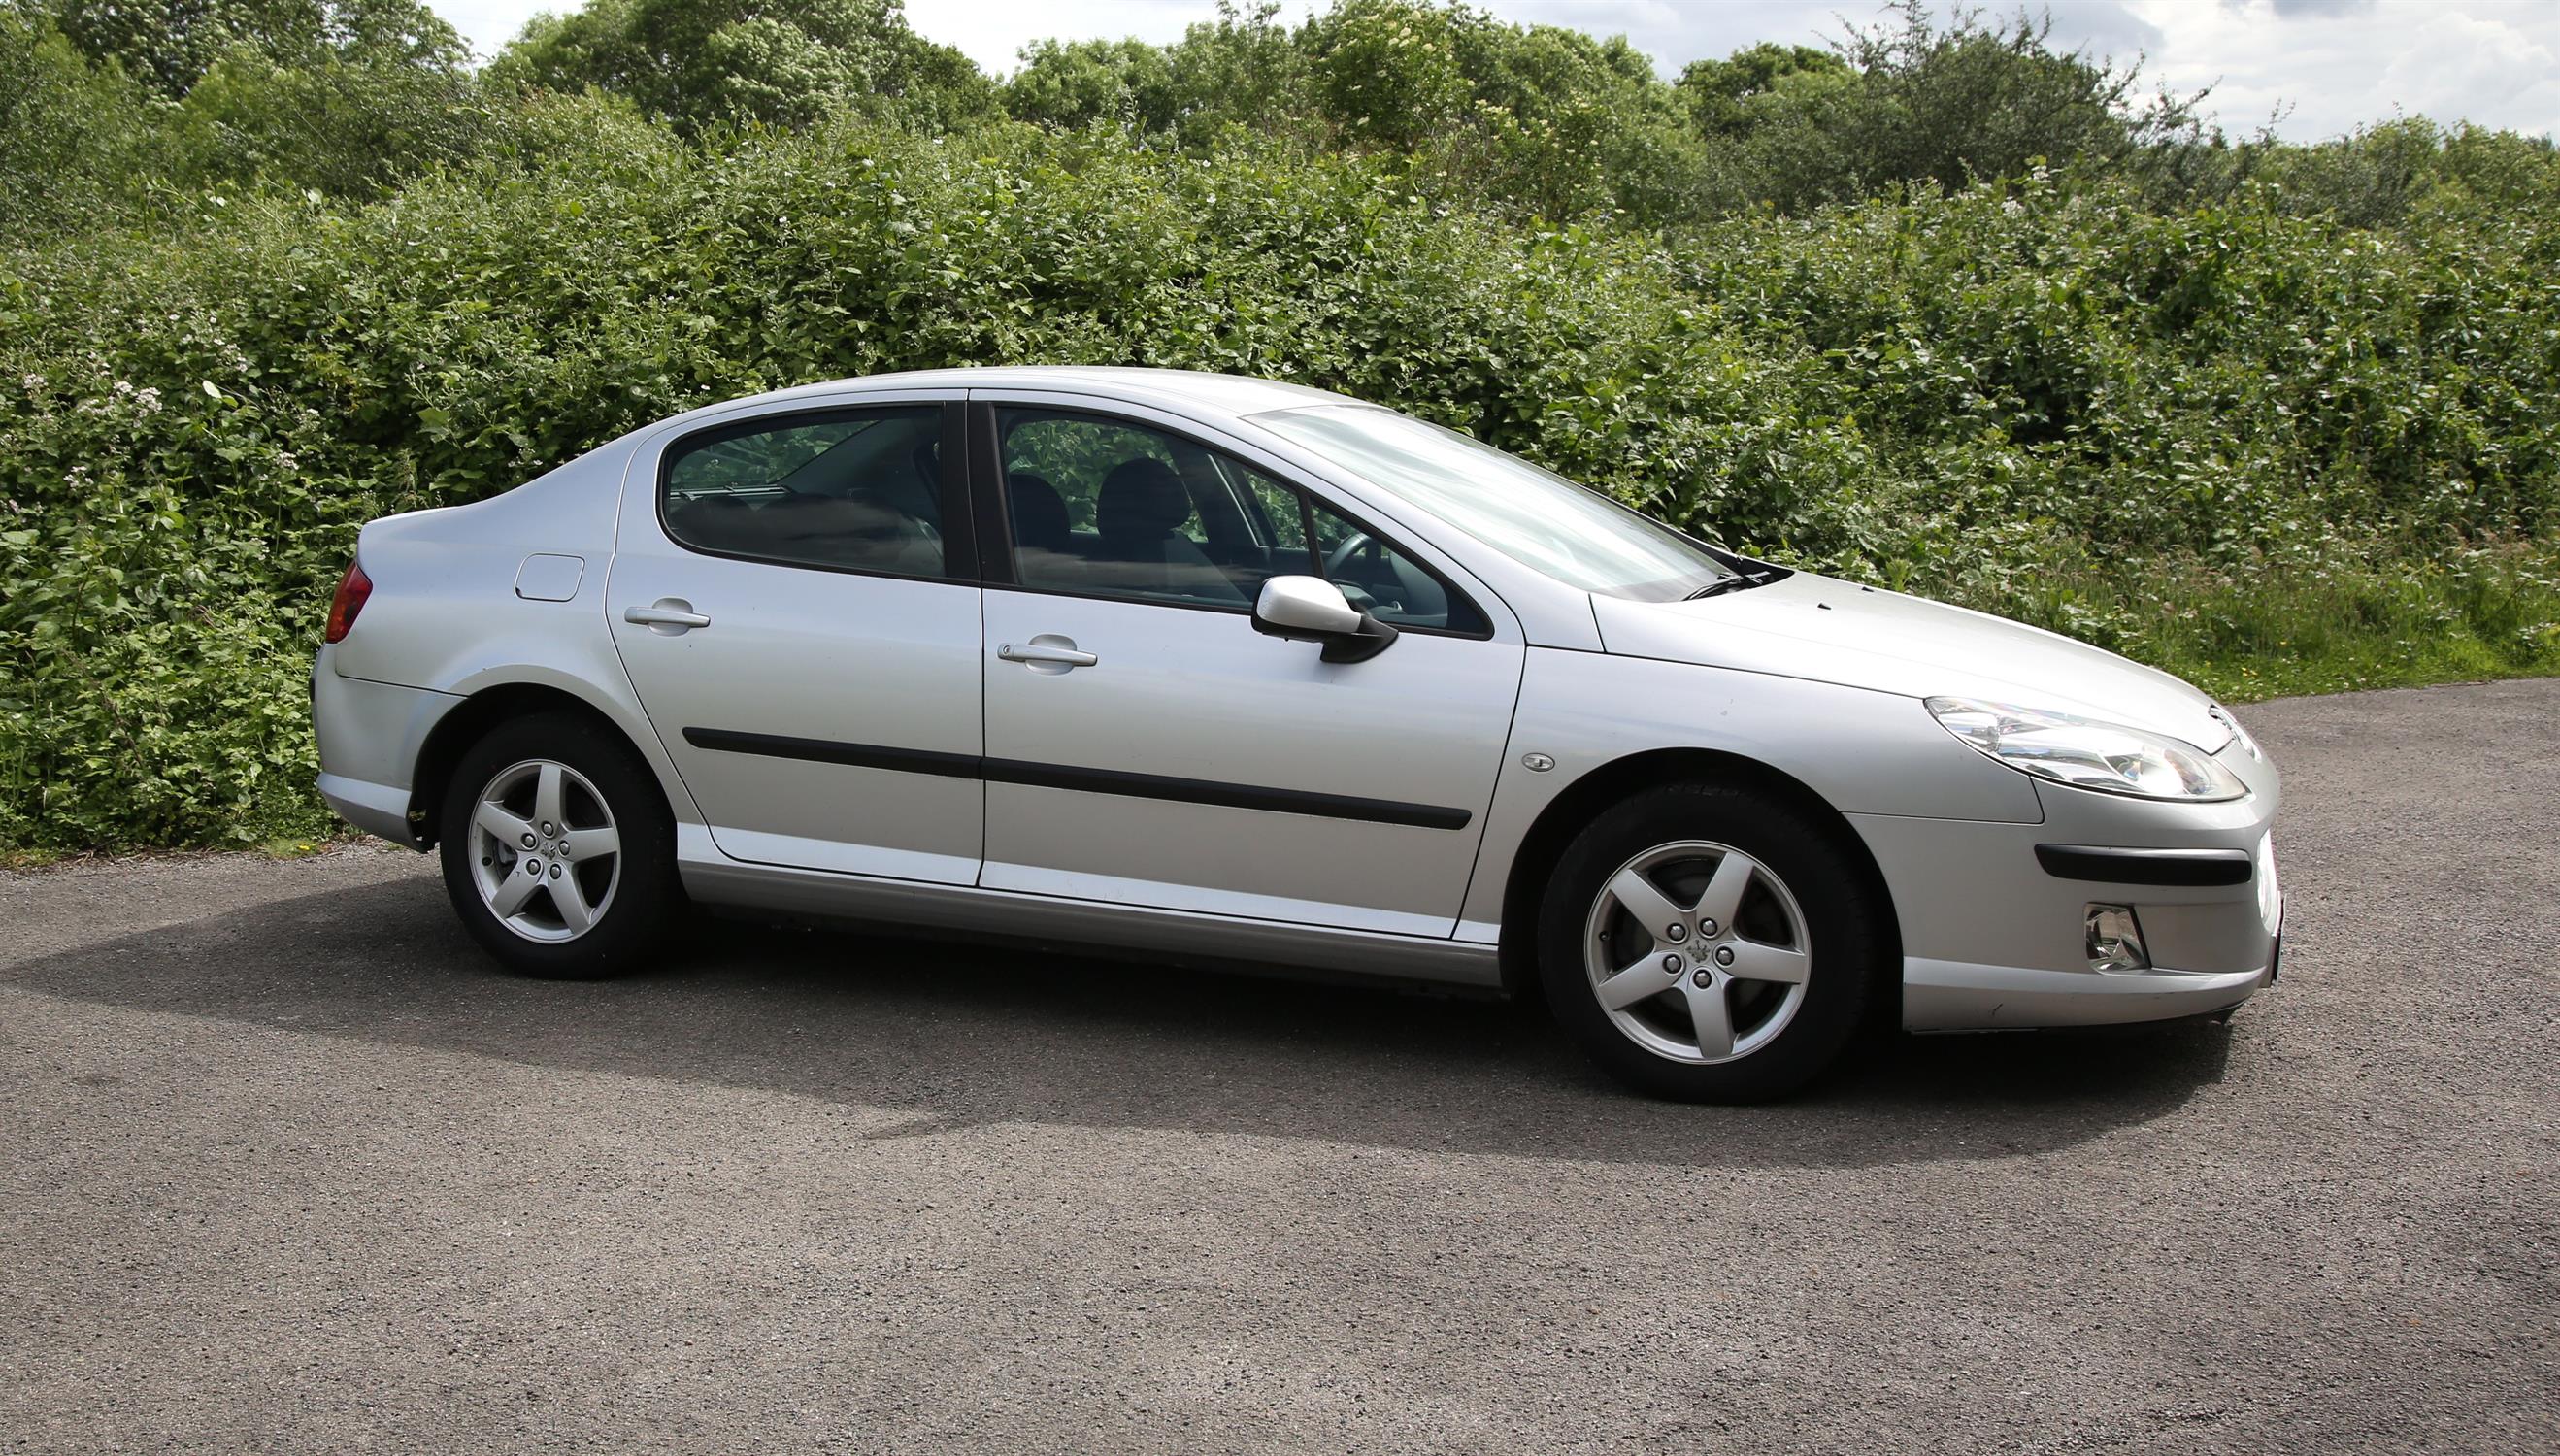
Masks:
[[[1628,1098],[1510,1008],[430,862],[0,878],[0,1451],[2552,1451],[2560,681],[2266,704],[2284,983]]]

